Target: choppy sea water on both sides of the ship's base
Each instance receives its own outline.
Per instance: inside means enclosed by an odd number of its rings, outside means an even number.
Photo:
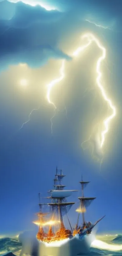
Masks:
[[[21,251],[21,243],[18,241],[18,236],[0,236],[0,255],[8,254],[8,256],[19,256]],[[9,253],[12,252],[12,253]],[[85,256],[122,256],[122,235],[99,235],[96,236],[96,240],[91,245],[91,250],[87,254],[81,254]]]

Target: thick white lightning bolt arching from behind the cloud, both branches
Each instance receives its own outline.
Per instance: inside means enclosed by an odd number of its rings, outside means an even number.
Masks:
[[[100,148],[102,148],[103,145],[104,145],[104,141],[105,141],[105,135],[107,134],[107,132],[109,130],[110,122],[116,116],[116,108],[112,104],[109,97],[107,96],[107,93],[106,93],[106,91],[105,91],[105,89],[104,89],[104,87],[101,83],[101,78],[102,78],[101,63],[106,58],[106,49],[102,46],[100,41],[93,34],[87,33],[87,34],[84,34],[81,37],[81,39],[85,39],[85,38],[87,39],[87,43],[85,45],[82,45],[81,47],[78,47],[73,52],[72,56],[79,56],[79,54],[81,52],[83,52],[88,46],[90,46],[93,41],[96,43],[98,48],[102,51],[102,55],[97,60],[97,65],[96,65],[96,73],[97,73],[96,84],[97,84],[97,87],[100,89],[100,92],[101,92],[101,95],[102,95],[103,99],[108,103],[108,106],[112,110],[112,114],[103,121],[104,129],[101,130],[101,139],[100,139],[100,141],[98,141]],[[56,85],[58,82],[60,82],[65,76],[65,74],[64,74],[64,63],[65,63],[65,60],[62,61],[62,65],[61,65],[61,69],[60,69],[61,76],[57,79],[54,79],[53,81],[51,81],[51,83],[49,85],[47,85],[47,88],[48,88],[47,100],[48,100],[48,103],[50,103],[54,106],[55,110],[56,110],[56,106],[50,99],[50,93],[51,93],[51,89],[54,87],[54,85]]]

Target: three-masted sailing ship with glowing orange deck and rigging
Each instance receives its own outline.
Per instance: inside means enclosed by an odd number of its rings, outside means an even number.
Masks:
[[[85,236],[91,233],[94,226],[104,217],[99,219],[97,222],[92,224],[91,222],[86,222],[84,218],[84,213],[86,207],[88,207],[91,202],[96,197],[84,197],[84,188],[89,182],[81,180],[81,191],[82,196],[78,197],[80,200],[80,206],[76,211],[78,212],[77,224],[74,230],[72,229],[71,222],[68,218],[68,211],[75,202],[67,202],[67,197],[70,197],[72,192],[78,190],[64,190],[66,186],[62,185],[62,179],[65,177],[61,169],[56,168],[56,174],[54,178],[54,189],[50,190],[50,196],[46,199],[51,200],[51,202],[43,204],[40,202],[40,193],[39,193],[39,207],[40,211],[37,213],[38,221],[35,221],[36,225],[39,225],[39,230],[37,233],[37,239],[50,243],[54,241],[72,239],[74,236],[77,236],[80,240]],[[42,210],[42,206],[47,205],[50,207],[50,213],[45,213]],[[78,226],[80,213],[82,214],[82,225]],[[67,216],[70,229],[66,229],[64,225],[63,217]],[[48,217],[49,216],[49,217]],[[45,227],[48,227],[48,231],[45,231]]]

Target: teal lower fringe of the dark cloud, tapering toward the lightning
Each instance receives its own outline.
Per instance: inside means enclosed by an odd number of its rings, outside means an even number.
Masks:
[[[1,53],[0,70],[5,70],[9,65],[18,65],[19,63],[27,63],[29,67],[38,68],[44,65],[48,59],[71,59],[58,49],[52,49],[50,46],[40,45],[38,47],[28,47],[16,51],[8,51]]]

